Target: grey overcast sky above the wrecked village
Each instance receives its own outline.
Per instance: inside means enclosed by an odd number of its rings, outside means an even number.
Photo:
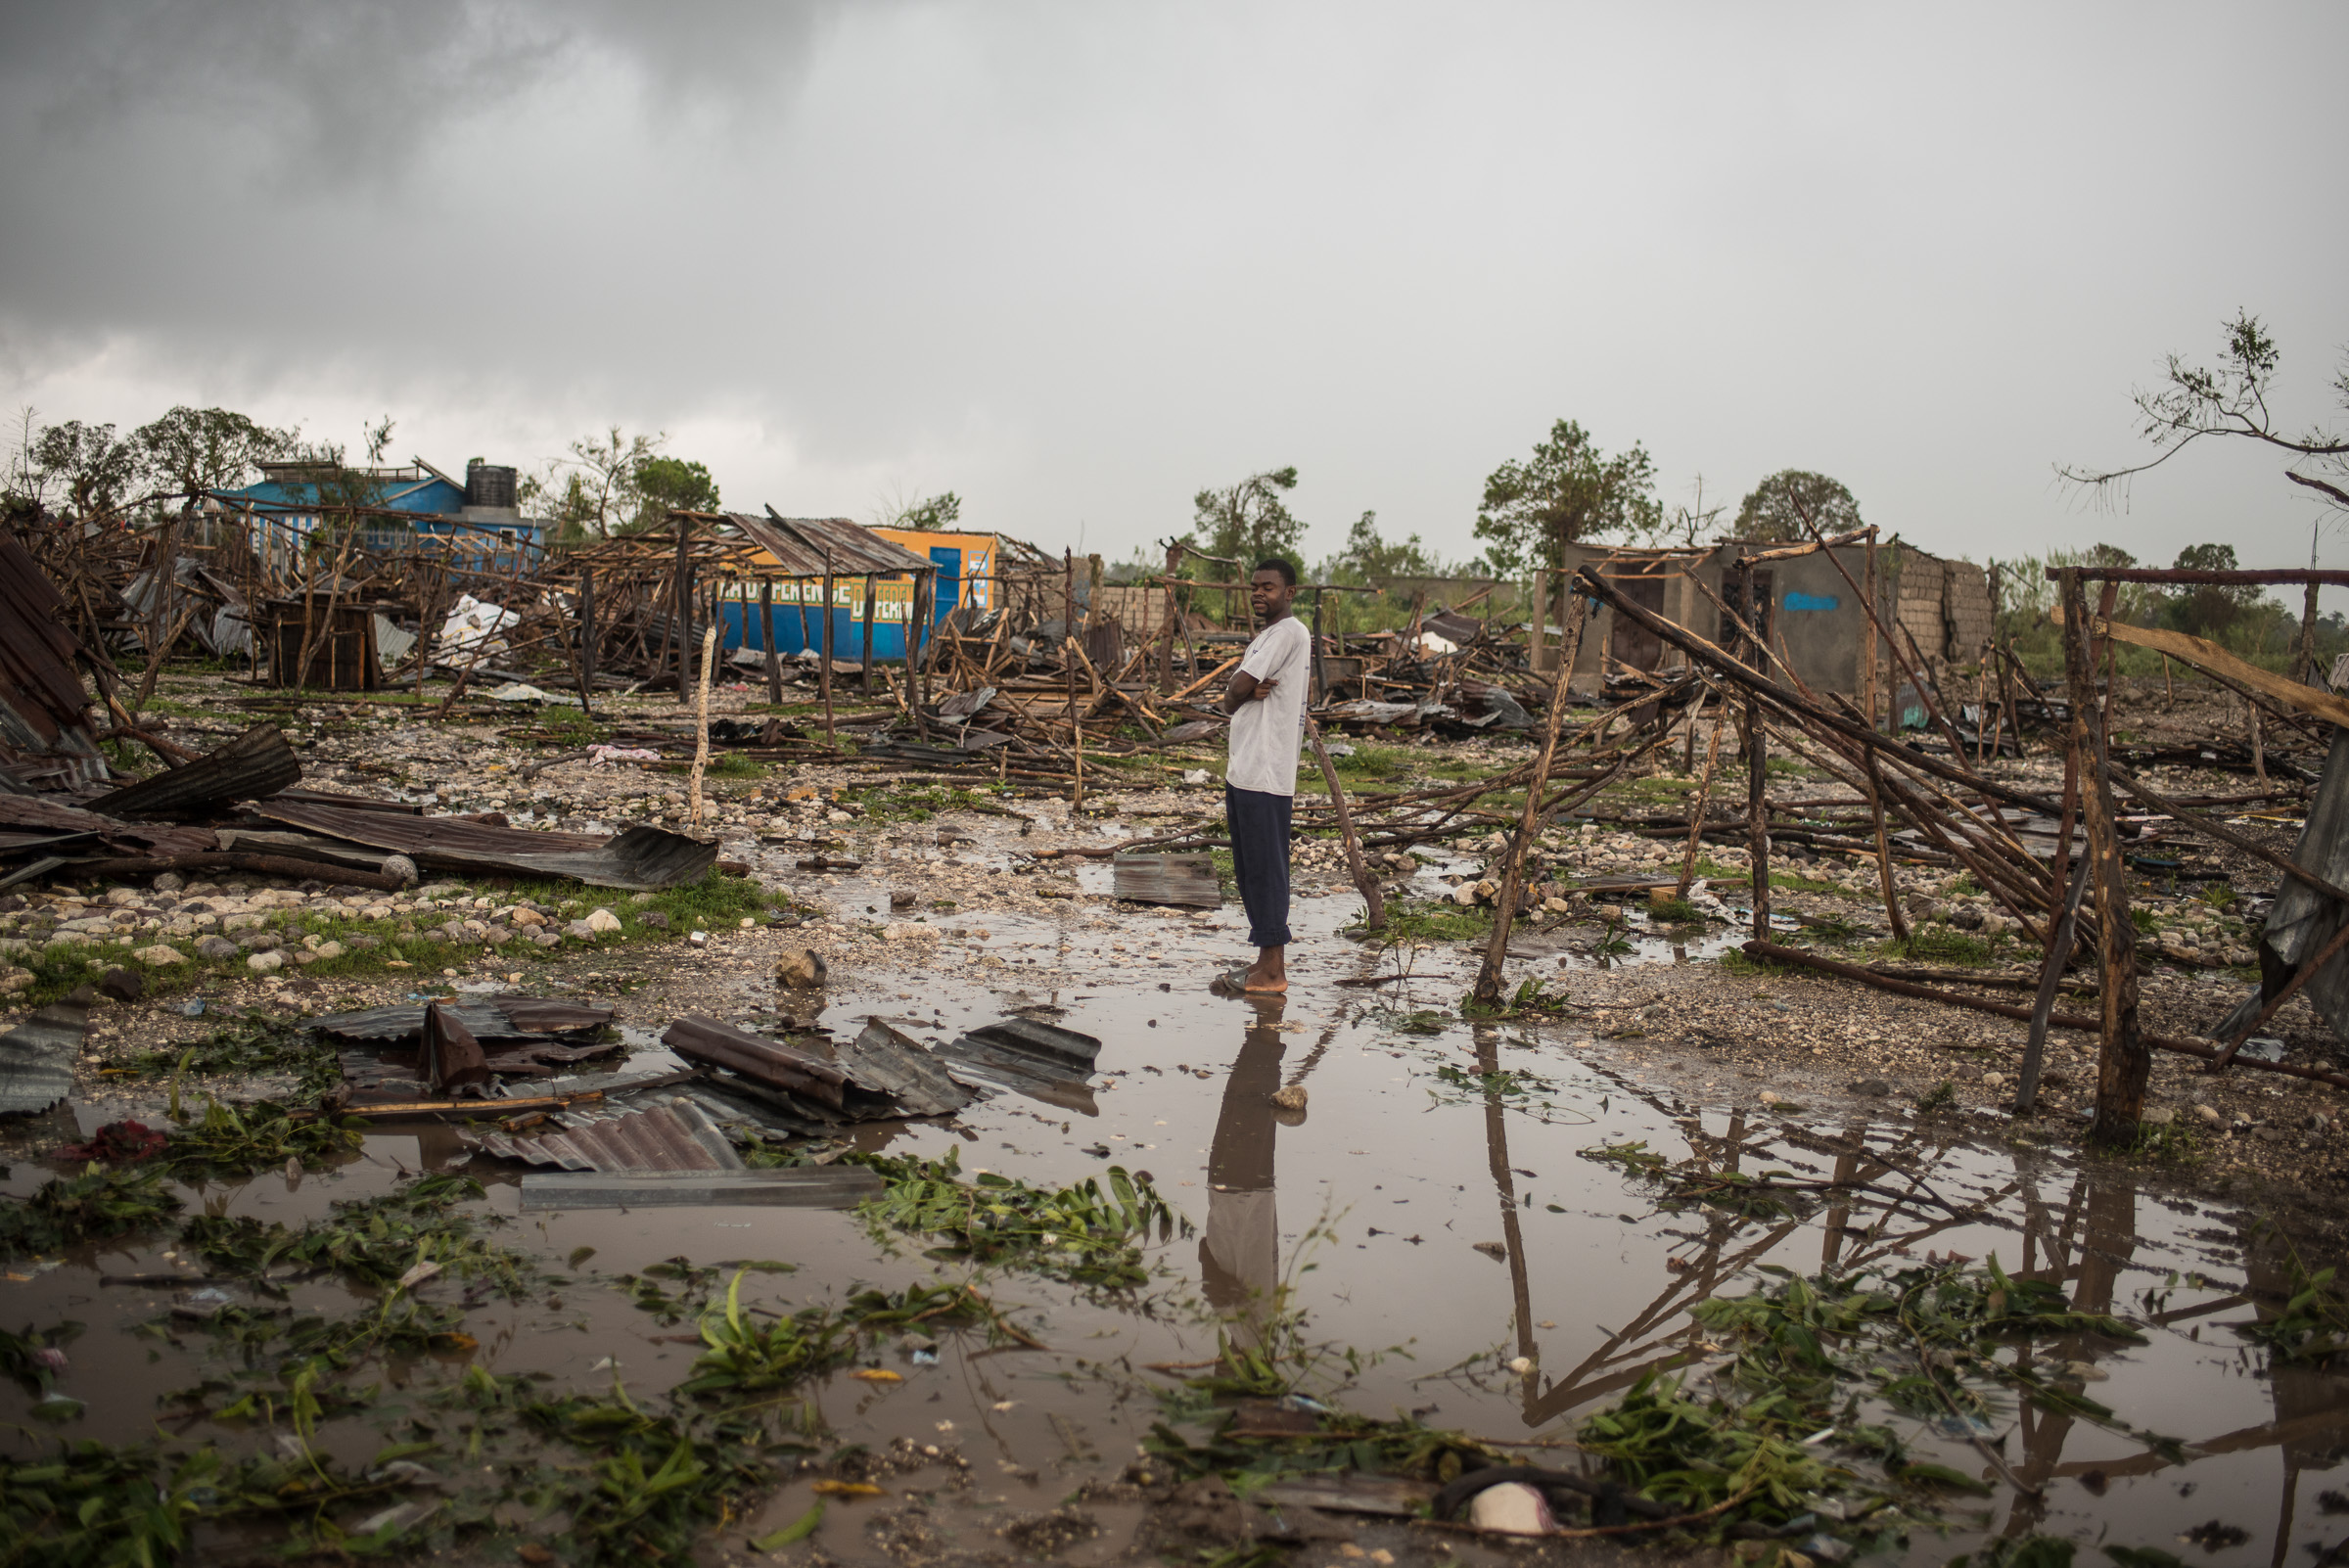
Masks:
[[[0,387],[226,404],[536,465],[665,430],[726,502],[1111,556],[1294,462],[1470,552],[1557,418],[1668,505],[1762,474],[1985,559],[2304,563],[2196,451],[2123,514],[2131,390],[2349,345],[2349,7],[7,5]],[[2328,535],[2323,559],[2349,563]]]

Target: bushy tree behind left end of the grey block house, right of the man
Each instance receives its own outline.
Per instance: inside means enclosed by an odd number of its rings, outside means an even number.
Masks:
[[[1640,540],[1661,526],[1647,448],[1633,441],[1609,458],[1574,420],[1550,425],[1550,439],[1527,462],[1496,467],[1475,514],[1475,535],[1496,577],[1564,566],[1567,545],[1609,535]]]

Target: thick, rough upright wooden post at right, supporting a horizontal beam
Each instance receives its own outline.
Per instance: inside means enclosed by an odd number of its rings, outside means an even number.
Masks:
[[[2088,878],[2095,887],[2095,934],[2102,958],[2102,1049],[2095,1068],[2095,1120],[2088,1138],[2102,1145],[2128,1145],[2145,1113],[2145,1080],[2152,1052],[2138,1033],[2138,930],[2128,920],[2128,869],[2121,861],[2121,833],[2112,807],[2112,784],[2105,779],[2105,711],[2095,692],[2095,667],[2088,662],[2088,599],[2079,568],[2062,570],[2065,601],[2065,674],[2072,685],[2072,751],[2079,777],[2081,819],[2088,829]]]

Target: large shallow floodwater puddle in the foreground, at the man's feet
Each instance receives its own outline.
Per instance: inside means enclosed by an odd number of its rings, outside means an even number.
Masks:
[[[1348,904],[1304,901],[1299,922],[1327,937]],[[181,1188],[186,1216],[298,1228],[331,1202],[390,1195],[406,1174],[463,1171],[486,1190],[467,1209],[500,1221],[482,1235],[559,1279],[519,1296],[418,1284],[418,1300],[460,1310],[460,1329],[364,1359],[350,1380],[383,1387],[312,1422],[319,1451],[362,1469],[413,1432],[432,1390],[472,1371],[658,1406],[705,1350],[698,1322],[745,1268],[740,1300],[766,1314],[756,1322],[933,1279],[975,1279],[1017,1322],[1019,1338],[883,1333],[855,1368],[813,1378],[803,1420],[822,1437],[810,1458],[843,1446],[886,1458],[871,1469],[881,1495],[822,1498],[782,1460],[756,1514],[719,1530],[726,1547],[810,1519],[817,1500],[827,1507],[806,1549],[834,1561],[904,1556],[909,1530],[965,1552],[1003,1552],[1029,1540],[1022,1530],[1052,1537],[1038,1519],[1076,1488],[1113,1486],[1167,1418],[1158,1394],[1212,1364],[1219,1343],[1355,1350],[1351,1364],[1322,1359],[1304,1392],[1567,1465],[1560,1444],[1642,1378],[1710,1387],[1731,1347],[1691,1319],[1698,1303],[1788,1275],[1950,1258],[1997,1258],[2011,1279],[2051,1282],[2072,1310],[2121,1317],[2142,1343],[2084,1329],[2018,1350],[2018,1366],[2077,1397],[2060,1411],[2011,1390],[1971,1415],[1872,1399],[1870,1420],[1910,1455],[1985,1488],[1947,1500],[1945,1535],[1912,1530],[1905,1561],[2041,1530],[2180,1556],[2180,1537],[2196,1533],[2192,1561],[2248,1566],[2300,1561],[2349,1535],[2328,1481],[2349,1458],[2349,1380],[2269,1366],[2232,1331],[2288,1296],[2286,1246],[2257,1214],[2168,1195],[2138,1167],[2084,1167],[2004,1122],[1886,1101],[1738,1108],[1663,1084],[1647,1073],[1656,1052],[1595,1038],[1571,1016],[1466,1023],[1456,944],[1419,955],[1405,981],[1348,991],[1332,981],[1398,958],[1308,941],[1287,998],[1226,1000],[1207,979],[1243,953],[1236,911],[987,925],[1001,969],[874,976],[834,991],[824,1023],[855,1033],[883,1016],[935,1045],[1012,1014],[1050,1019],[1104,1042],[1085,1103],[996,1087],[951,1120],[864,1124],[848,1141],[874,1155],[954,1155],[965,1178],[1038,1188],[1132,1171],[1179,1216],[1144,1239],[1146,1286],[975,1272],[846,1211],[524,1214],[524,1167],[477,1157],[432,1124],[376,1129],[331,1174]],[[1654,934],[1630,955],[1597,958],[1703,951],[1680,946]],[[745,976],[740,1005],[752,1016],[778,995]],[[625,1023],[639,1047],[630,1070],[672,1061],[655,1045],[660,1023]],[[26,1195],[49,1174],[19,1162],[5,1190]],[[0,1284],[12,1326],[82,1324],[54,1378],[80,1406],[42,1411],[35,1390],[9,1387],[0,1451],[28,1455],[52,1432],[141,1441],[157,1418],[181,1441],[282,1444],[291,1418],[226,1413],[256,1385],[240,1380],[240,1340],[188,1317],[207,1307],[200,1291],[291,1317],[364,1314],[390,1296],[305,1279],[277,1298],[197,1279],[211,1279],[207,1265],[169,1230],[12,1263]],[[500,1462],[465,1451],[449,1422],[435,1432],[444,1446],[423,1458],[430,1467]],[[1076,1533],[1062,1561],[1128,1549],[1139,1507],[1099,1498],[1090,1523],[1062,1521]],[[498,1521],[547,1530],[526,1507]],[[564,1545],[559,1530],[547,1540]]]

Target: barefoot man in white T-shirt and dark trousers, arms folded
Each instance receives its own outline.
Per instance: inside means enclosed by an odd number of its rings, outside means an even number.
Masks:
[[[1224,819],[1231,824],[1231,876],[1247,908],[1257,962],[1226,974],[1238,991],[1290,988],[1290,803],[1297,796],[1297,742],[1306,725],[1306,674],[1313,634],[1290,615],[1297,568],[1257,561],[1247,601],[1264,631],[1247,646],[1240,674],[1224,688],[1231,714],[1231,761],[1224,768]]]

